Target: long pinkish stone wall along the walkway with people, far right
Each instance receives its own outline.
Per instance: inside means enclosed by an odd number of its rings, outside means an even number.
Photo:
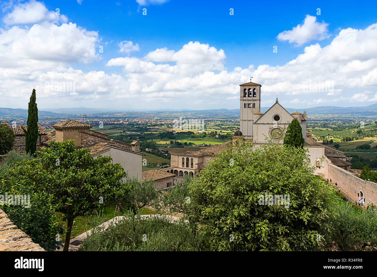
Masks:
[[[373,203],[377,205],[377,184],[374,182],[364,181],[356,177],[351,172],[331,164],[327,158],[324,162],[325,179],[331,179],[337,183],[338,187],[351,199],[359,201],[361,195],[365,198],[365,204]],[[359,196],[357,195],[359,193]],[[362,193],[362,194],[361,194]],[[364,201],[364,199],[363,199]]]

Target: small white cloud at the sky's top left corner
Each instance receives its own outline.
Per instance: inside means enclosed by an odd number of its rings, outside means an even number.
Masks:
[[[31,0],[28,3],[15,6],[12,12],[5,15],[3,21],[8,25],[31,24],[41,21],[67,22],[67,17],[59,15],[59,13],[58,11],[49,11],[43,3]]]

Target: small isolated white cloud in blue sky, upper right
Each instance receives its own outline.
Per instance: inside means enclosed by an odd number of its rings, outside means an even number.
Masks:
[[[290,31],[277,35],[279,40],[288,40],[289,43],[297,43],[298,46],[311,40],[323,40],[330,37],[327,31],[328,23],[316,22],[316,17],[307,15],[302,25],[298,24]]]

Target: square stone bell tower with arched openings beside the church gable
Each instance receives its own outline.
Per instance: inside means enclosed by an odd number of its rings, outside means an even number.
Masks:
[[[253,114],[261,112],[261,85],[251,82],[240,86],[240,130],[245,139],[253,139]]]

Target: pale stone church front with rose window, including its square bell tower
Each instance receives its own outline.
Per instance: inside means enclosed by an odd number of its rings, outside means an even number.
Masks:
[[[275,104],[267,112],[261,113],[261,87],[252,82],[240,85],[240,131],[234,134],[233,141],[243,136],[244,140],[251,140],[256,146],[268,140],[283,144],[285,129],[297,118],[306,142],[306,112],[289,113],[276,98]]]

